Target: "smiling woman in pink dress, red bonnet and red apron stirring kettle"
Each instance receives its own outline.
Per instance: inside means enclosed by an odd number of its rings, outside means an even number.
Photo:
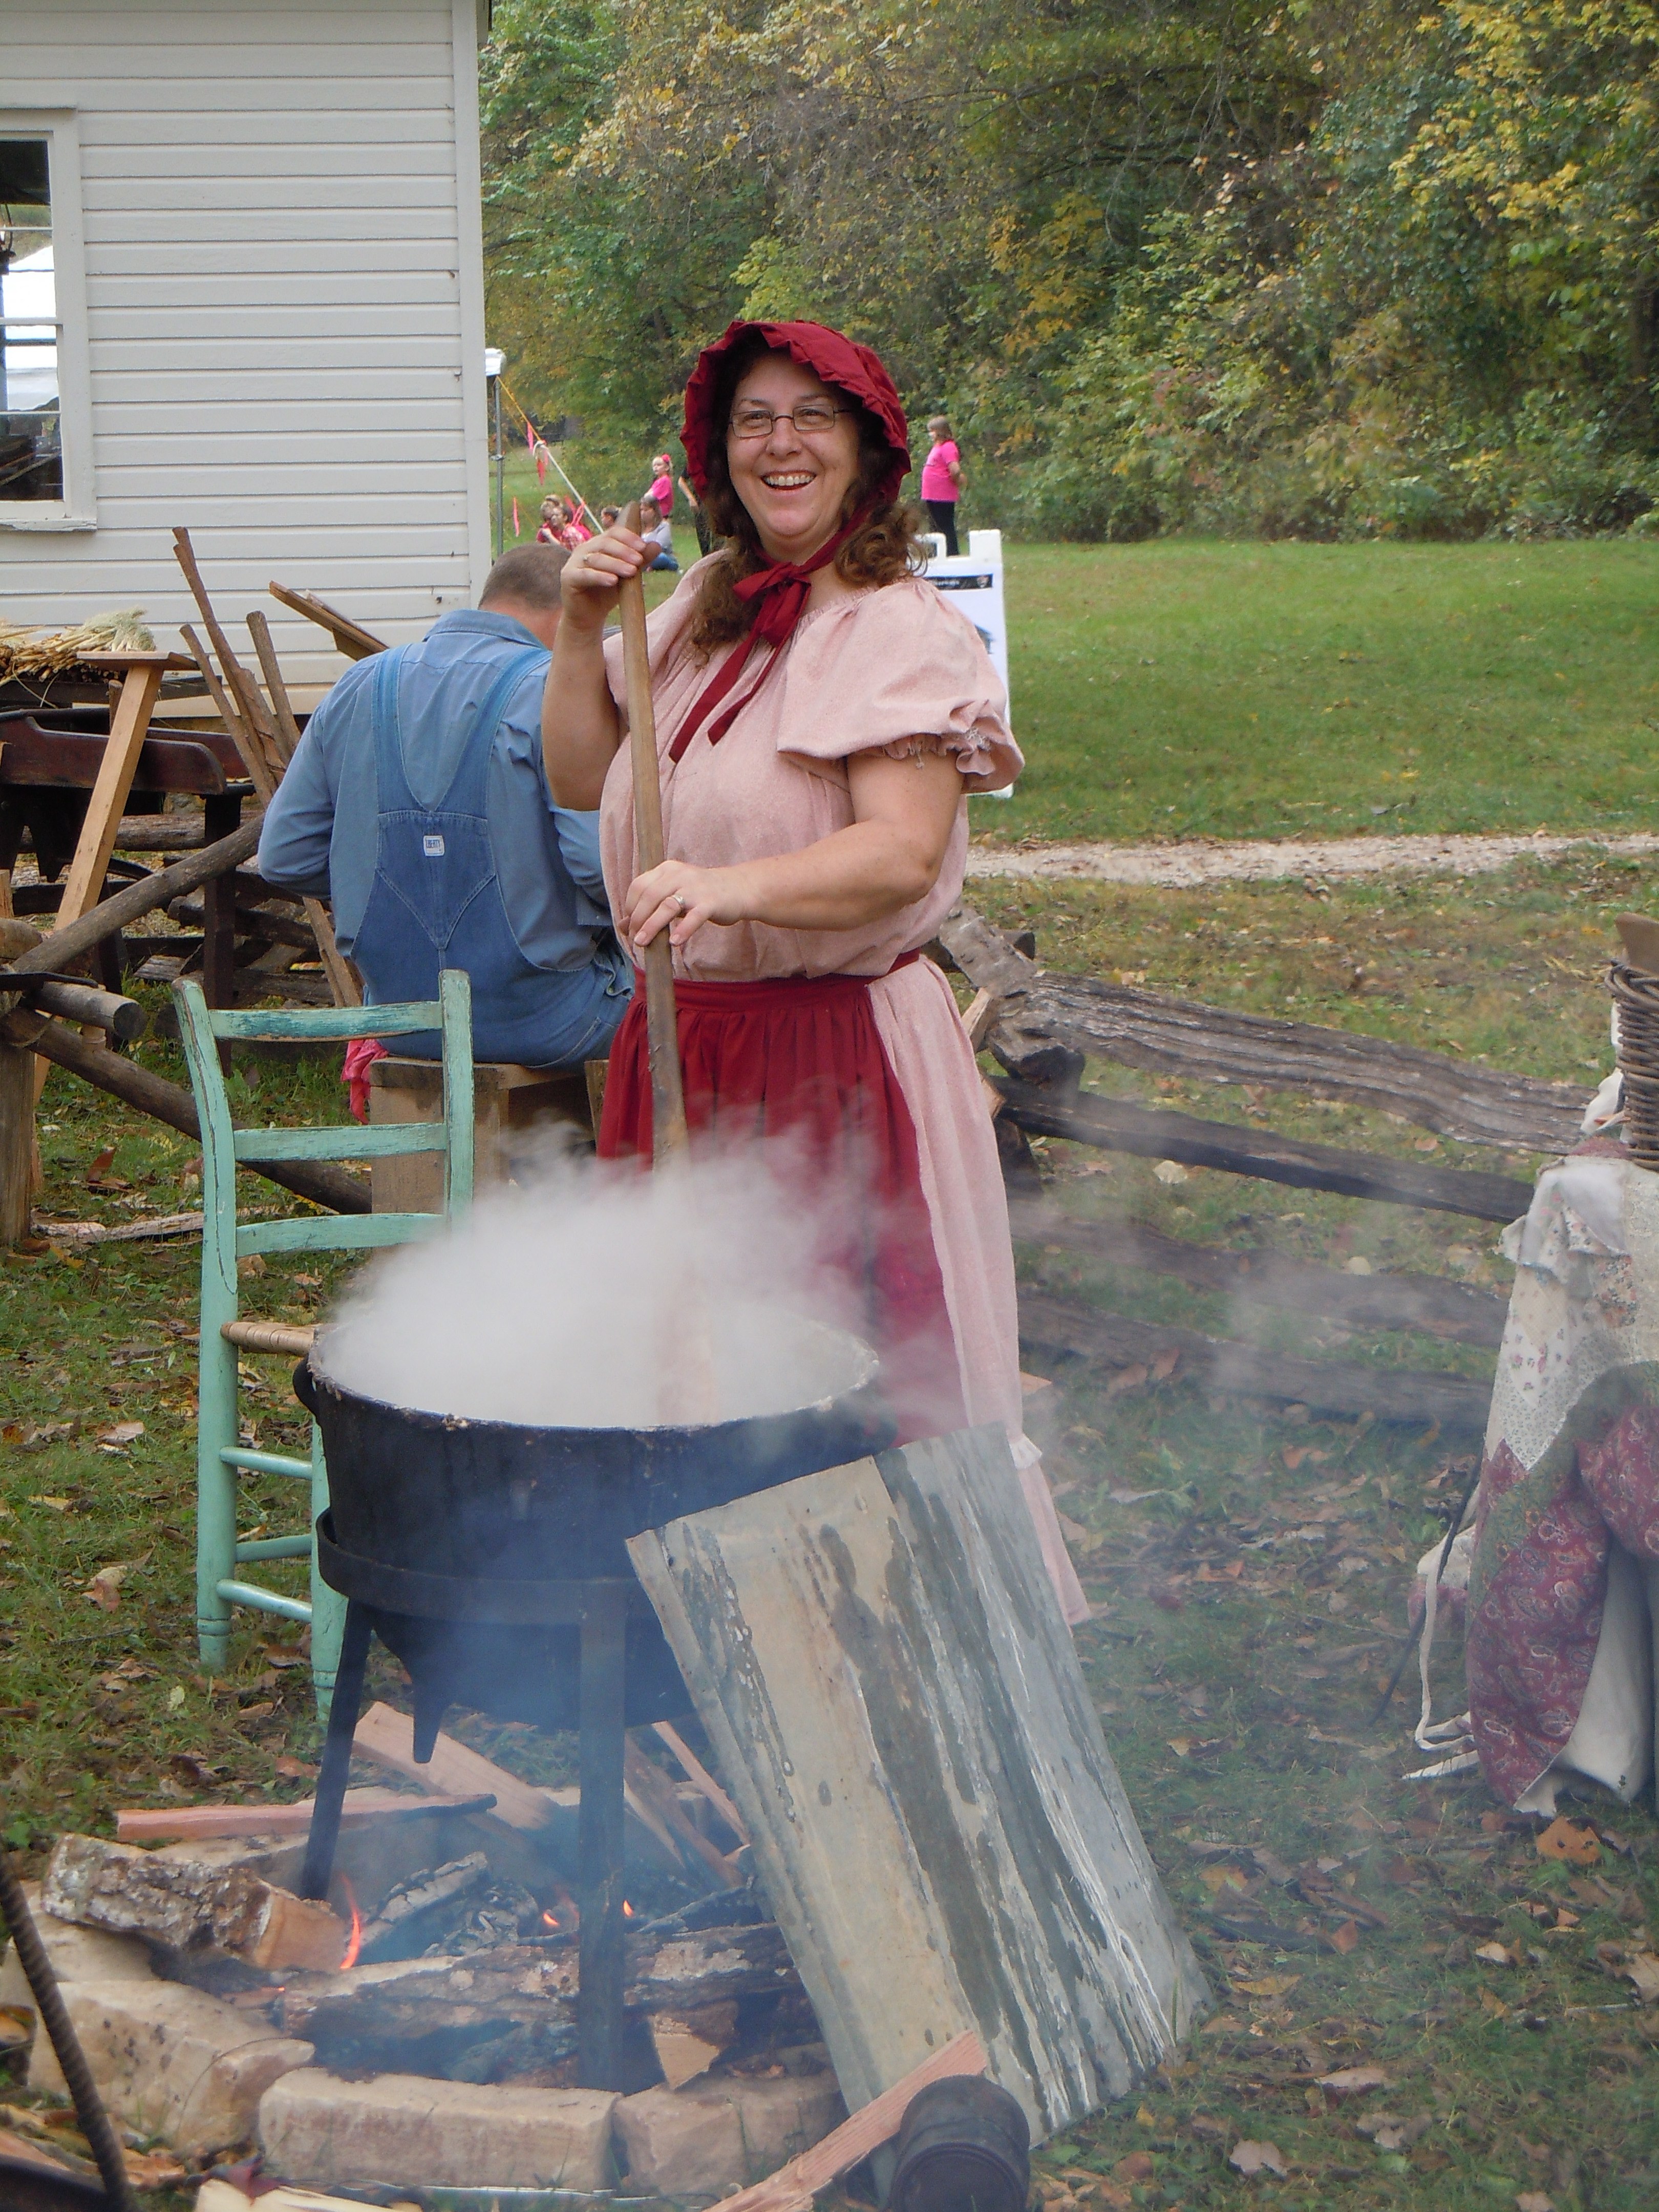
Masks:
[[[686,1113],[783,1137],[845,1192],[900,1438],[998,1420],[1066,1619],[1084,1619],[1020,1411],[1009,1214],[956,1000],[925,958],[962,891],[967,794],[1022,759],[973,626],[918,575],[905,414],[878,356],[821,323],[732,323],[686,387],[686,462],[730,540],[648,622],[668,858],[633,858],[617,584],[655,546],[566,562],[542,741],[553,799],[599,807],[611,907],[675,949]],[[611,1048],[599,1150],[650,1150],[644,993]]]

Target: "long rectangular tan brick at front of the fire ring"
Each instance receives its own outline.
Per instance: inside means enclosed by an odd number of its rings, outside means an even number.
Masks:
[[[310,2066],[265,2090],[259,2146],[268,2172],[316,2190],[608,2190],[615,2104],[599,2088],[343,2081]]]

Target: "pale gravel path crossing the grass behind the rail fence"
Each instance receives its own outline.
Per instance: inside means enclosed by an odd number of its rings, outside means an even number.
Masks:
[[[1659,836],[1345,836],[1243,838],[1237,845],[971,845],[973,876],[1024,876],[1035,883],[1144,883],[1190,889],[1199,883],[1267,883],[1274,876],[1484,876],[1522,854],[1546,860],[1588,845],[1619,858],[1659,854]]]

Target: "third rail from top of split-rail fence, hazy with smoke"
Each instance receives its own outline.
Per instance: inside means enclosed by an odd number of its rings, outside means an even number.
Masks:
[[[1422,1329],[1464,1345],[1500,1345],[1509,1303],[1440,1274],[1347,1274],[1283,1252],[1225,1252],[1164,1237],[1144,1221],[1084,1221],[1057,1206],[1011,1206],[1018,1243],[1088,1252],[1113,1267],[1172,1274],[1194,1290],[1221,1290],[1243,1305],[1287,1305],[1363,1329]]]

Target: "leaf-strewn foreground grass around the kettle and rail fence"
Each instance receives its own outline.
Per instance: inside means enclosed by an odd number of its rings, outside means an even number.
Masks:
[[[1146,973],[1152,987],[1588,1088],[1606,1066],[1599,960],[1639,872],[1586,852],[1471,883],[1338,883],[1318,896],[1301,885],[1015,883],[978,896],[998,922],[1035,925],[1053,967]],[[139,1051],[181,1075],[173,1046]],[[250,1115],[343,1115],[327,1064],[246,1064],[246,1077]],[[1088,1082],[1409,1159],[1427,1144],[1447,1166],[1533,1166],[1360,1108],[1106,1064]],[[108,1175],[86,1186],[106,1146],[126,1190]],[[119,1221],[135,1197],[157,1212],[195,1197],[195,1146],[62,1073],[44,1093],[42,1155],[53,1212]],[[1509,1281],[1491,1223],[1208,1170],[1164,1181],[1152,1161],[1062,1141],[1040,1157],[1068,1210],[1124,1210],[1170,1237],[1265,1241],[1332,1265],[1422,1267],[1493,1292]],[[248,1197],[274,1192],[250,1179]],[[106,1245],[84,1259],[22,1250],[0,1263],[0,1798],[7,1838],[31,1867],[64,1827],[108,1834],[117,1805],[310,1790],[319,1730],[305,1670],[290,1663],[299,1632],[241,1615],[221,1681],[195,1652],[197,1265],[195,1245]],[[246,1285],[248,1310],[310,1318],[349,1265],[270,1256]],[[1256,1334],[1305,1358],[1491,1365],[1436,1338],[1272,1310],[1252,1321],[1172,1279],[1113,1274],[1068,1252],[1026,1248],[1020,1270],[1117,1312]],[[1548,2197],[1555,2212],[1648,2212],[1659,2201],[1659,2013],[1632,2002],[1601,1953],[1659,1929],[1659,1825],[1646,1803],[1575,1807],[1615,1840],[1590,1876],[1564,1869],[1478,1778],[1400,1781],[1418,1763],[1407,1699],[1371,1725],[1413,1562],[1467,1480],[1471,1440],[1212,1402],[1179,1369],[1108,1389],[1082,1363],[1033,1365],[1064,1391],[1048,1467],[1099,1608],[1079,1632],[1084,1670],[1217,1995],[1168,2068],[1044,2148],[1048,2212],[1221,2212],[1267,2197],[1285,2212],[1486,2212],[1522,2194]],[[303,1449],[283,1363],[248,1369],[261,1385],[248,1402],[259,1442]],[[104,1442],[133,1420],[144,1436]],[[294,1526],[290,1486],[248,1480],[243,1528],[261,1522]],[[111,1564],[126,1577],[115,1610],[102,1610],[86,1586]],[[1458,1657],[1451,1635],[1438,1668],[1444,1710]],[[385,1666],[376,1688],[405,1697]],[[451,1725],[531,1776],[568,1763],[562,1739],[478,1717]],[[1270,1867],[1325,1865],[1329,1909],[1310,1913],[1250,1851]],[[1267,1933],[1230,1933],[1241,1913]],[[1340,1931],[1347,1949],[1321,1931]],[[1493,1942],[1511,1962],[1478,1955]],[[1356,2066],[1378,2068],[1387,2088],[1349,2104],[1318,2088],[1321,2075]],[[0,2101],[29,2101],[2,2066]],[[1407,2124],[1402,2148],[1360,2128],[1378,2110]],[[1241,2139],[1274,2143],[1287,2177],[1243,2181],[1228,2166]]]

